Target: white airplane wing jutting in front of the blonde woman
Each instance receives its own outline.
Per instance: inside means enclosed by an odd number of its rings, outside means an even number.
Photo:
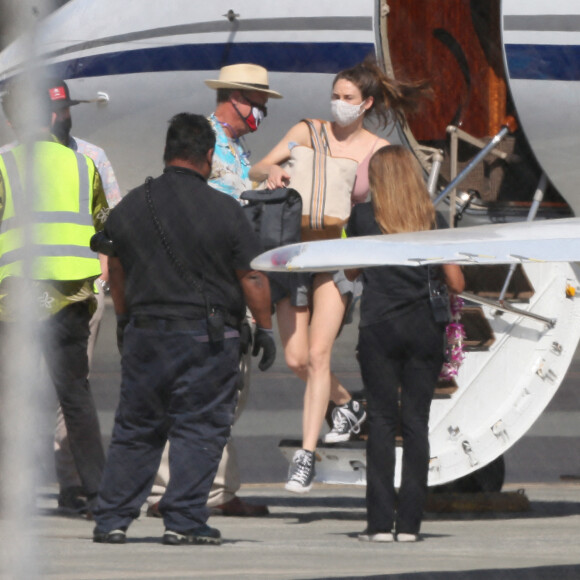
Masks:
[[[580,261],[580,218],[303,242],[265,252],[252,267],[323,272],[384,265],[576,261]]]

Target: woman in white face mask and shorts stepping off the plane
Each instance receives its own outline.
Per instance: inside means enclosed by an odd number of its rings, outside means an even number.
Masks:
[[[369,195],[367,167],[372,154],[388,141],[365,128],[364,120],[374,115],[386,126],[391,120],[404,121],[404,113],[414,111],[426,93],[426,85],[399,83],[388,78],[372,61],[365,61],[338,73],[332,85],[331,123],[315,120],[320,131],[325,123],[331,154],[359,163],[352,191],[353,204]],[[255,181],[266,181],[267,187],[292,186],[290,175],[281,167],[296,145],[311,146],[306,123],[300,122],[250,171]],[[311,232],[310,239],[315,238]],[[340,235],[336,230],[334,235]],[[332,235],[332,234],[330,234]],[[323,237],[329,237],[325,231]],[[365,412],[331,373],[332,346],[341,327],[352,284],[342,273],[289,275],[271,280],[272,300],[276,312],[286,363],[306,382],[302,421],[302,449],[293,458],[286,489],[305,493],[314,478],[314,450],[329,400],[337,408],[333,429],[326,443],[347,441],[358,433]]]

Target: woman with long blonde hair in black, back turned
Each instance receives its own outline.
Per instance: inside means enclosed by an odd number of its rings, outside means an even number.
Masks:
[[[435,227],[419,163],[400,146],[379,149],[369,164],[371,203],[356,206],[349,236]],[[349,272],[349,276],[358,272]],[[463,290],[456,265],[384,266],[362,271],[359,364],[367,393],[367,529],[359,539],[418,539],[429,469],[429,411],[444,361],[445,286]],[[443,303],[443,306],[445,304]],[[443,316],[441,316],[443,313]],[[395,436],[401,425],[403,469],[394,487]]]

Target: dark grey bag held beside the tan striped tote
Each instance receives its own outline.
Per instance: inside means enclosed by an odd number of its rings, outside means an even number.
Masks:
[[[251,189],[240,196],[242,206],[264,250],[300,241],[302,198],[289,187]]]

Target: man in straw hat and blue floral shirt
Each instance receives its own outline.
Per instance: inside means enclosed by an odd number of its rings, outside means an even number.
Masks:
[[[282,95],[270,88],[268,71],[256,64],[233,64],[220,69],[217,80],[206,80],[205,84],[217,90],[215,112],[208,120],[216,134],[216,144],[212,159],[212,171],[208,184],[214,189],[239,199],[240,195],[252,189],[249,178],[250,152],[244,143],[244,135],[257,131],[268,114],[266,103],[271,97],[281,99]],[[248,333],[251,332],[248,326]],[[250,352],[240,360],[243,384],[240,385],[236,420],[245,407],[250,385]],[[158,505],[169,480],[168,450],[165,449],[161,465],[155,479],[152,493],[147,499],[147,515],[159,517]],[[259,517],[268,515],[265,505],[250,504],[237,495],[240,489],[240,474],[235,447],[230,437],[220,461],[217,475],[212,485],[208,507],[214,514],[239,517]]]

